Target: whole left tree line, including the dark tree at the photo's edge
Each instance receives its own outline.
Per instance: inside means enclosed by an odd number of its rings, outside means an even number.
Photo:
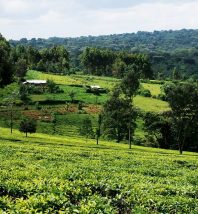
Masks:
[[[70,69],[68,51],[63,46],[38,50],[32,46],[12,47],[0,34],[0,87],[23,78],[28,69],[68,74]]]

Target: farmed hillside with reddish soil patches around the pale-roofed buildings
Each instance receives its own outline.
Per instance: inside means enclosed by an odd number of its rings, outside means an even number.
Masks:
[[[94,124],[97,121],[97,114],[101,111],[102,105],[106,102],[109,94],[94,95],[86,93],[85,85],[100,85],[109,90],[119,82],[118,79],[111,77],[97,77],[86,75],[70,75],[61,76],[54,74],[46,74],[38,71],[28,71],[28,79],[50,79],[54,80],[59,87],[64,91],[60,94],[33,94],[30,96],[31,103],[27,110],[24,110],[21,101],[17,98],[16,103],[20,104],[14,106],[14,128],[18,129],[19,123],[23,116],[30,116],[38,120],[37,132],[53,133],[53,125],[50,120],[51,113],[57,114],[56,134],[65,136],[78,136],[82,120],[85,117],[90,117]],[[142,87],[149,89],[152,95],[161,93],[160,84],[142,83]],[[0,89],[0,102],[6,103],[6,98],[10,96],[13,91],[17,91],[19,86],[17,83],[8,85]],[[71,102],[69,93],[75,92],[75,100],[83,102],[83,110],[78,110],[78,104],[70,104],[69,110],[66,111],[67,103]],[[39,104],[40,109],[37,109],[36,103]],[[152,97],[136,96],[134,98],[134,105],[144,112],[163,112],[169,110],[167,102]],[[10,108],[0,107],[0,126],[9,127],[10,123]],[[44,113],[47,112],[47,113]],[[44,118],[47,117],[48,120]],[[140,119],[137,121],[137,129],[135,135],[138,138],[144,139],[144,123]]]

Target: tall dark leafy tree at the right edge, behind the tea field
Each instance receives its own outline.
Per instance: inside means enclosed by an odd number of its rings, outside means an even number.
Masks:
[[[178,83],[164,88],[172,109],[175,140],[180,154],[189,136],[198,136],[198,86],[195,83]],[[194,128],[196,127],[196,128]]]

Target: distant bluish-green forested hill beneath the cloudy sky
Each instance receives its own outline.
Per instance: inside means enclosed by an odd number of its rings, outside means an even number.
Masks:
[[[181,78],[198,74],[198,30],[154,31],[126,33],[109,36],[88,36],[78,38],[57,38],[19,41],[11,40],[13,46],[31,45],[38,49],[63,45],[70,53],[72,67],[81,69],[79,56],[86,47],[106,48],[112,51],[146,53],[152,62],[156,78],[172,78],[176,68]]]

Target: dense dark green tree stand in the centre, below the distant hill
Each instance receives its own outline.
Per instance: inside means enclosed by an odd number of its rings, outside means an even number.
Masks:
[[[86,73],[123,78],[129,68],[142,78],[153,76],[149,58],[144,54],[113,52],[107,49],[86,48],[81,54]]]

